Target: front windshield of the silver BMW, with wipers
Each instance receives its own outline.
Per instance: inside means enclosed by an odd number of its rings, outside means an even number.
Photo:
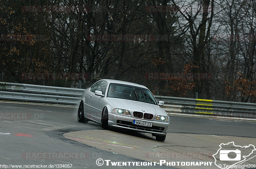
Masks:
[[[154,96],[148,89],[125,84],[110,83],[107,97],[135,100],[157,105]]]

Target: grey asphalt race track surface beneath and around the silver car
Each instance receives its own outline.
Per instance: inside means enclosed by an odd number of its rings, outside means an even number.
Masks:
[[[76,116],[77,108],[73,107],[0,102],[0,168],[10,164],[55,165],[54,168],[68,168],[68,164],[72,164],[71,168],[218,168],[212,155],[221,143],[256,145],[256,122],[251,121],[170,116],[166,140],[158,142],[151,134],[102,130],[93,122],[79,123]],[[252,150],[248,148],[248,152]],[[256,151],[252,152],[248,158],[256,155]],[[127,162],[127,166],[112,166],[110,162],[107,166],[107,161],[98,166],[99,158]],[[160,166],[160,160],[175,165]],[[156,166],[133,166],[128,162],[155,162]],[[181,162],[212,165],[181,166]],[[244,164],[253,167],[256,157]]]

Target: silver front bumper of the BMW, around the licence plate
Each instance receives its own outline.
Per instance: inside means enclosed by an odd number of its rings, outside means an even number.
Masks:
[[[132,124],[133,120],[153,123],[152,127],[140,126]],[[152,133],[154,135],[166,135],[169,123],[149,121],[140,118],[108,113],[108,125],[110,127],[122,128],[127,130],[135,130],[143,133]]]

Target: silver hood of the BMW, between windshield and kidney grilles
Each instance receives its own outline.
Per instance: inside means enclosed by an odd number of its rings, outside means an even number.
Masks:
[[[150,113],[150,114],[153,114],[154,117],[156,115],[167,116],[167,113],[164,111],[164,109],[162,109],[158,105],[145,103],[145,102],[138,102],[133,100],[111,98],[111,97],[108,97],[107,99],[110,102],[112,102],[116,106],[116,108],[129,110],[132,116],[133,116],[133,111],[139,111],[139,112],[142,112],[143,114]]]

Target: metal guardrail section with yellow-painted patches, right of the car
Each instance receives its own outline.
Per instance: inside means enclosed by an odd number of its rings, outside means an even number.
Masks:
[[[155,96],[166,112],[256,119],[256,104],[207,99]]]

